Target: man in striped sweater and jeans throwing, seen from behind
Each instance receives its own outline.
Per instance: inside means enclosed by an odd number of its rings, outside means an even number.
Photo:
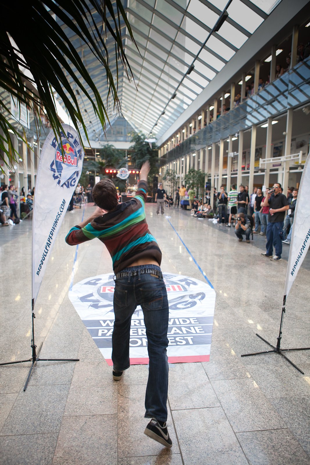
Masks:
[[[92,189],[97,205],[92,216],[70,229],[66,243],[70,246],[98,238],[112,257],[115,273],[112,333],[113,379],[122,378],[129,368],[129,339],[132,314],[141,306],[144,314],[149,378],[145,392],[145,418],[151,421],[145,434],[171,447],[166,426],[168,395],[168,317],[165,283],[160,270],[161,251],[148,230],[145,219],[149,162],[140,170],[135,197],[119,204],[116,187],[102,179]]]

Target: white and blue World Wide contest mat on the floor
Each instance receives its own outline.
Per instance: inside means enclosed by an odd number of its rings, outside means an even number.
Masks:
[[[169,301],[167,349],[170,363],[209,361],[215,291],[207,283],[188,276],[163,273]],[[113,274],[83,279],[69,292],[69,299],[100,352],[112,365],[114,322]],[[143,312],[138,306],[130,329],[130,362],[148,364]]]

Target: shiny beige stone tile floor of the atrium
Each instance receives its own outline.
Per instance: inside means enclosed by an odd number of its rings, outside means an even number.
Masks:
[[[170,365],[166,450],[147,438],[147,366],[112,381],[68,299],[75,247],[64,242],[83,209],[66,213],[35,308],[42,358],[23,392],[29,363],[0,367],[0,465],[310,464],[310,351],[290,352],[304,375],[277,354],[241,358],[276,344],[288,247],[273,263],[264,237],[239,243],[223,226],[167,210],[147,219],[163,252],[162,270],[203,279],[216,291],[210,362]],[[85,215],[92,211],[87,206]],[[193,260],[183,243],[191,252]],[[31,220],[0,228],[0,361],[31,356]],[[309,253],[287,299],[282,347],[310,347]],[[112,271],[99,241],[79,246],[73,283]]]

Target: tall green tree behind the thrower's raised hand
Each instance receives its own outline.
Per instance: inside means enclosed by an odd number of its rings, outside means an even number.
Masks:
[[[158,174],[158,147],[156,144],[152,144],[152,147],[148,142],[145,142],[145,134],[133,133],[131,142],[133,145],[130,146],[130,156],[132,165],[140,169],[145,161],[150,162],[150,173],[148,175],[149,186],[153,185],[153,177]]]

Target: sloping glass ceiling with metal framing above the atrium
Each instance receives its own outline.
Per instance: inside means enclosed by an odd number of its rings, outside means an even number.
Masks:
[[[118,93],[125,119],[138,130],[146,134],[152,132],[159,138],[215,78],[280,1],[232,0],[227,8],[228,18],[219,31],[211,35],[200,53],[199,50],[228,0],[124,1],[139,48],[138,50],[124,27],[122,34],[125,53],[134,76],[134,82],[128,82],[125,72],[123,76],[119,74]],[[83,53],[79,39],[73,36],[72,42],[76,50]],[[114,42],[109,41],[109,38],[107,48],[110,62],[113,63]],[[91,53],[85,53],[84,63],[105,101],[107,88],[102,68],[93,61]],[[194,70],[183,79],[192,63]],[[175,92],[177,95],[171,100]],[[86,126],[90,138],[104,140],[91,104],[85,98],[80,100],[82,108],[84,106],[89,116]],[[108,108],[108,114],[110,119],[114,117],[113,105]]]

